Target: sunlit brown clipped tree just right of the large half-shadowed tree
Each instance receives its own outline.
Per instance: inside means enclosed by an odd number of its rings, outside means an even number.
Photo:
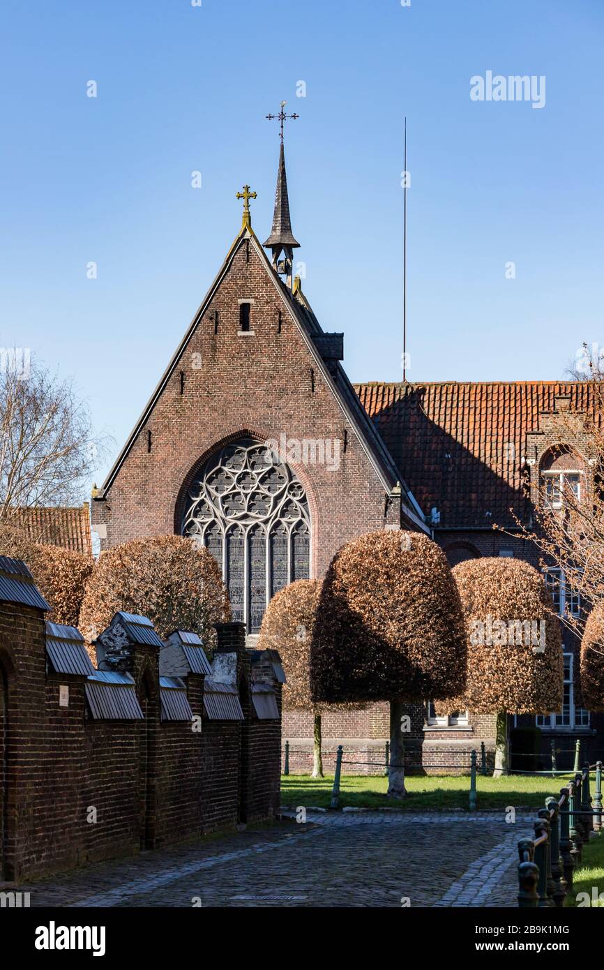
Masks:
[[[562,704],[558,618],[543,576],[521,560],[473,559],[453,569],[467,637],[462,695],[438,711],[496,715],[494,775],[508,770],[508,714],[548,714]]]

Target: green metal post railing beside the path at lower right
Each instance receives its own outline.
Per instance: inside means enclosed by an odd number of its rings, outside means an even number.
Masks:
[[[590,772],[595,789],[590,792]],[[560,789],[559,798],[547,798],[534,822],[535,837],[518,843],[518,905],[548,908],[564,905],[581,863],[583,846],[591,832],[602,838],[602,762],[586,764]]]

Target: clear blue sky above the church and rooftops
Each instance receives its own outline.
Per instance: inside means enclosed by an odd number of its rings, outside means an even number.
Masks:
[[[405,114],[409,379],[556,378],[604,344],[601,0],[5,0],[0,33],[0,345],[75,375],[116,450],[243,182],[269,233],[281,99],[304,290],[353,380],[401,378]],[[470,100],[489,70],[544,75],[545,107]]]

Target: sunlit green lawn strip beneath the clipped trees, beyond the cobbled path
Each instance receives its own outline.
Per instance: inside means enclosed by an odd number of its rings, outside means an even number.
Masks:
[[[564,784],[565,776],[529,778],[510,775],[503,778],[478,776],[478,809],[504,809],[508,805],[529,808],[543,808],[545,799],[556,795]],[[281,804],[329,808],[332,797],[334,776],[323,779],[309,775],[281,776]],[[470,790],[469,775],[430,775],[421,777],[411,775],[406,778],[405,786],[409,792],[406,798],[388,798],[388,778],[378,775],[342,775],[340,781],[340,806],[351,805],[358,808],[398,808],[404,812],[425,811],[426,809],[467,810]]]

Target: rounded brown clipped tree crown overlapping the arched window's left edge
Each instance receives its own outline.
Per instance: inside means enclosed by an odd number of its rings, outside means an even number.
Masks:
[[[101,553],[79,615],[84,639],[96,639],[120,610],[148,617],[161,637],[192,630],[210,650],[213,625],[231,619],[215,559],[180,535],[133,539]]]

